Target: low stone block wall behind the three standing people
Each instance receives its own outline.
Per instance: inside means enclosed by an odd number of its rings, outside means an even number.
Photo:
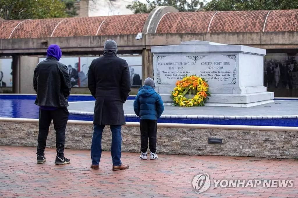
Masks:
[[[92,133],[92,122],[68,124],[65,147],[90,149]],[[0,145],[35,147],[37,136],[37,122],[0,121]],[[208,138],[221,138],[222,144],[208,144]],[[157,152],[164,154],[298,158],[297,144],[298,128],[297,131],[265,131],[158,127],[157,131]],[[102,145],[103,150],[111,149],[109,126],[104,130]],[[55,147],[53,125],[49,130],[47,147]],[[139,150],[139,127],[122,126],[122,151],[138,153]]]

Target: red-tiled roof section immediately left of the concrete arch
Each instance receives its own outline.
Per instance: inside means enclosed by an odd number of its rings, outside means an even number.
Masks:
[[[100,27],[98,35],[137,34],[142,32],[149,14],[109,16]]]

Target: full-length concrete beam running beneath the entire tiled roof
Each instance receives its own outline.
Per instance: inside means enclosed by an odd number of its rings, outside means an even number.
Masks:
[[[188,33],[145,34],[140,40],[135,35],[52,37],[34,39],[1,39],[0,54],[45,53],[50,44],[60,45],[66,54],[100,54],[104,42],[114,39],[118,51],[130,52],[150,49],[151,46],[179,45],[188,40],[206,40],[232,45],[248,45],[263,49],[297,49],[298,32],[243,32],[243,33]]]

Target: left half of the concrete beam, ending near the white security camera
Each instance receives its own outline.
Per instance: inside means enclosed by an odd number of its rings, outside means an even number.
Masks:
[[[0,54],[46,52],[51,44],[57,44],[63,51],[103,51],[106,40],[113,39],[119,51],[142,50],[145,38],[136,40],[135,35],[52,37],[30,39],[1,39]]]

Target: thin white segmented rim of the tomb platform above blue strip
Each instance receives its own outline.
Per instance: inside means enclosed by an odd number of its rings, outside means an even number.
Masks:
[[[84,112],[84,111],[69,111],[69,114],[93,116],[93,112]],[[125,115],[125,117],[138,118],[138,116],[136,114],[124,114],[124,115]],[[160,118],[171,118],[171,119],[293,119],[293,118],[298,118],[298,115],[259,115],[259,116],[161,115]]]

